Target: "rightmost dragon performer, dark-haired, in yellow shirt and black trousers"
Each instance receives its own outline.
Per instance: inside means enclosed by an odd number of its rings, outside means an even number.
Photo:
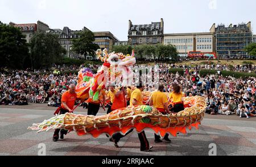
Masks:
[[[174,102],[174,106],[171,109],[173,112],[180,112],[184,110],[184,105],[183,105],[183,93],[181,91],[181,86],[179,85],[173,85],[173,91],[170,94],[170,99]]]

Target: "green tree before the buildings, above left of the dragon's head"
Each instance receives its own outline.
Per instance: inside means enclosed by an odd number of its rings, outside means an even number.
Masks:
[[[77,34],[80,36],[78,39],[73,39],[72,51],[80,53],[84,56],[93,56],[97,49],[100,47],[97,44],[94,44],[94,34],[92,31],[84,30]]]

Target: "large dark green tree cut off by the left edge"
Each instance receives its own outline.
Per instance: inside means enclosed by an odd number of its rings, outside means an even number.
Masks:
[[[0,66],[20,69],[28,57],[28,45],[19,28],[0,23]]]

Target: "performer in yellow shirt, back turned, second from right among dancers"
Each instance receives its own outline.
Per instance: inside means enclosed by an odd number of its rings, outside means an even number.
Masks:
[[[163,93],[164,86],[159,85],[158,91],[155,91],[151,95],[150,99],[150,106],[154,106],[158,109],[159,112],[162,112],[162,114],[170,114],[170,111],[168,109],[168,99],[167,95]],[[167,142],[171,142],[171,140],[168,138],[169,134],[166,133],[164,136],[164,140]],[[162,140],[160,140],[160,136],[155,134],[155,143],[160,143]]]

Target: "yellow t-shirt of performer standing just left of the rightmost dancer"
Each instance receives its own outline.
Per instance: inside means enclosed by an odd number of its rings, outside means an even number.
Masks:
[[[168,102],[167,95],[161,91],[152,93],[151,100],[153,101],[153,106],[156,108],[164,108],[163,104]]]

